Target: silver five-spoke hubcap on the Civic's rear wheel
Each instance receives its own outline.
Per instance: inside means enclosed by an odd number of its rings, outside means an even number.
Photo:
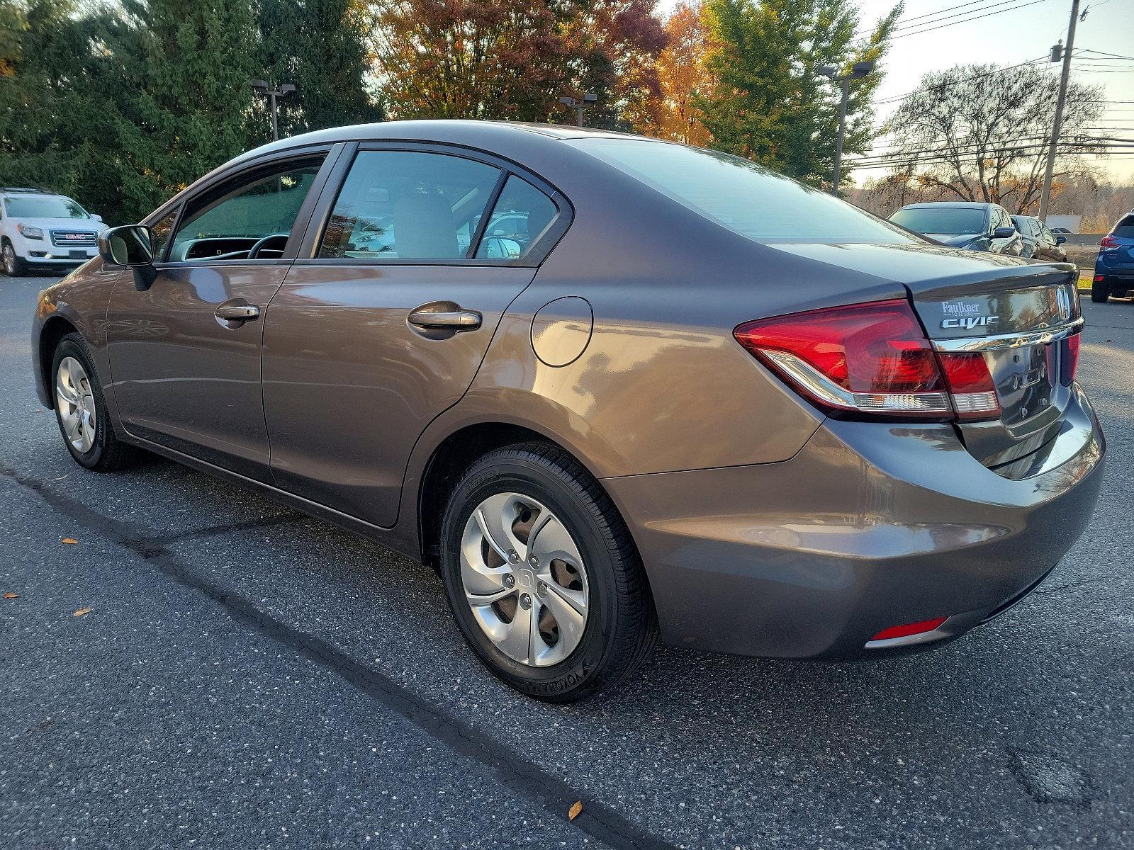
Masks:
[[[521,493],[497,493],[465,524],[460,580],[473,617],[509,658],[556,664],[586,628],[589,585],[567,527]]]

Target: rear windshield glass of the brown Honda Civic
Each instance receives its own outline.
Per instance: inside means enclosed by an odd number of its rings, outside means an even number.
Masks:
[[[569,144],[759,243],[914,241],[824,192],[727,153],[629,138]]]

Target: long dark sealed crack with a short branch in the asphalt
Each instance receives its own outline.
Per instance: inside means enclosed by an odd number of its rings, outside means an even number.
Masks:
[[[54,510],[81,522],[111,543],[128,549],[179,584],[219,603],[237,622],[256,629],[302,657],[314,661],[337,673],[366,696],[381,703],[431,738],[445,743],[452,751],[493,771],[500,781],[517,796],[533,800],[548,814],[568,821],[586,834],[613,848],[676,850],[675,844],[642,830],[609,806],[596,800],[582,799],[582,813],[574,821],[570,821],[568,809],[581,798],[567,782],[527,762],[508,745],[476,729],[463,719],[421,699],[389,677],[350,658],[322,638],[302,632],[263,613],[248,600],[223,589],[204,576],[195,573],[163,545],[172,539],[204,535],[205,533],[223,534],[226,530],[238,530],[242,527],[249,527],[248,521],[192,529],[163,541],[155,541],[154,538],[141,537],[137,529],[132,528],[128,524],[107,517],[83,502],[52,490],[41,481],[22,475],[18,470],[3,464],[0,464],[0,476],[31,490]],[[274,519],[279,522],[286,521],[284,517]],[[295,519],[297,516],[287,516],[287,520]],[[253,522],[251,527],[255,527],[254,524],[257,522],[276,524],[264,520],[252,520],[251,522]]]

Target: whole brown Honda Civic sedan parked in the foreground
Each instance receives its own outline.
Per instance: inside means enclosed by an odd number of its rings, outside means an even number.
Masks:
[[[358,222],[392,236],[359,248]],[[541,699],[624,680],[659,634],[947,643],[1042,581],[1099,492],[1074,266],[722,153],[320,130],[100,252],[34,320],[75,460],[142,447],[435,566],[475,654]]]

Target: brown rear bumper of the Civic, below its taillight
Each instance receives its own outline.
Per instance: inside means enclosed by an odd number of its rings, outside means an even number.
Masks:
[[[1105,442],[1076,391],[1039,470],[1005,478],[949,425],[828,420],[779,464],[607,478],[667,643],[769,657],[878,657],[882,629],[958,637],[1029,593],[1090,520]],[[929,646],[925,640],[911,646]]]

